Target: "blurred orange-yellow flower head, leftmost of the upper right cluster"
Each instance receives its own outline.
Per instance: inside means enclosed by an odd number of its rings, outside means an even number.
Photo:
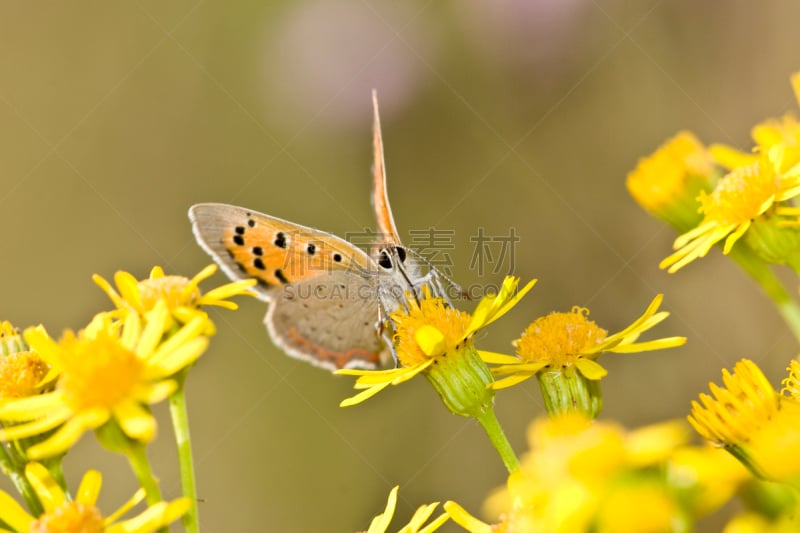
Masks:
[[[645,211],[686,231],[700,221],[697,195],[711,190],[717,170],[708,150],[688,131],[639,160],[628,174],[628,192]]]

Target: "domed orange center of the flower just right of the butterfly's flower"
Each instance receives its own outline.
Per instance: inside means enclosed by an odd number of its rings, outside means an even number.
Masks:
[[[573,307],[569,313],[550,313],[528,326],[516,342],[517,354],[529,363],[554,367],[571,365],[581,353],[605,340],[607,331],[587,316],[589,310]]]

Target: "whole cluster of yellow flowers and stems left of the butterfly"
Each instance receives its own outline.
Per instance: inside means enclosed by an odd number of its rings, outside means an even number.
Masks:
[[[201,307],[235,308],[225,298],[247,294],[254,283],[201,293],[199,282],[215,270],[208,267],[190,280],[156,267],[144,281],[118,272],[121,296],[96,276],[116,308],[59,339],[42,326],[20,333],[0,324],[0,466],[29,510],[0,492],[2,523],[20,532],[145,532],[194,514],[192,498],[161,501],[143,449],[157,431],[150,405],[176,397],[186,371],[208,347],[214,325]],[[91,430],[128,457],[143,487],[108,516],[96,507],[98,472],[87,472],[75,496],[66,492],[61,474],[61,457]],[[145,497],[146,511],[119,521]]]

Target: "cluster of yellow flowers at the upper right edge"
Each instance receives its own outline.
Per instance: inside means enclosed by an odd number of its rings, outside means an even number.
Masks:
[[[800,75],[792,84],[800,103]],[[752,152],[742,153],[706,149],[681,133],[628,176],[634,199],[681,232],[661,268],[677,272],[720,242],[725,254],[744,242],[767,263],[800,268],[800,212],[792,203],[800,195],[800,123],[791,115],[767,119],[752,136]]]

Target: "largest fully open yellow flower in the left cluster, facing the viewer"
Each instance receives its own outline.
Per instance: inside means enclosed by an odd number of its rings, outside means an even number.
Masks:
[[[156,422],[147,404],[167,398],[177,387],[170,379],[205,351],[201,336],[207,318],[197,316],[167,340],[169,311],[158,302],[142,328],[141,318],[128,313],[124,323],[98,315],[85,330],[67,331],[56,343],[43,329],[29,328],[25,339],[58,373],[55,390],[0,404],[0,420],[13,422],[0,430],[12,441],[58,428],[28,450],[38,459],[65,452],[84,431],[114,419],[130,438],[149,442]]]

